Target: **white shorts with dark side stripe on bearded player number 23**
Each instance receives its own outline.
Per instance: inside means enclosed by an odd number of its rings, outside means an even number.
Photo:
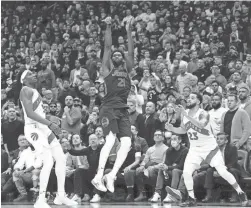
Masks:
[[[196,169],[199,169],[203,161],[205,161],[211,167],[225,165],[221,151],[217,146],[213,150],[190,149],[185,160],[184,169],[190,165],[195,166]]]

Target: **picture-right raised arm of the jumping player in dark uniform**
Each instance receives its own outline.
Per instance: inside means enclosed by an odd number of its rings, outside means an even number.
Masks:
[[[130,72],[134,66],[134,45],[132,39],[132,20],[126,25],[127,38],[128,38],[128,55],[125,56],[126,66],[128,72]]]

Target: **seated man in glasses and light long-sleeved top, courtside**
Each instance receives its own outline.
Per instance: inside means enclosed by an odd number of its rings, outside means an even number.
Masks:
[[[147,150],[140,167],[136,169],[136,184],[139,190],[139,196],[134,201],[143,201],[146,199],[146,193],[144,191],[144,184],[147,182],[146,179],[149,179],[151,184],[156,184],[158,164],[164,161],[168,147],[163,143],[164,134],[160,130],[155,131],[154,142],[155,145]]]

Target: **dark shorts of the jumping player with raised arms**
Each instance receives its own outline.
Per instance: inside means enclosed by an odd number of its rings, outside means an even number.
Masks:
[[[102,107],[100,109],[100,123],[104,136],[107,136],[111,131],[116,134],[118,138],[131,137],[131,123],[126,108],[114,109]]]

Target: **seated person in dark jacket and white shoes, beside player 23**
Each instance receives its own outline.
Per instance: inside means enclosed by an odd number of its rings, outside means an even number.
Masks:
[[[158,202],[161,199],[161,191],[164,185],[178,188],[180,177],[182,175],[184,162],[188,149],[181,144],[182,138],[173,134],[171,137],[171,148],[166,151],[165,162],[158,165],[158,177],[155,187],[155,193],[151,202]],[[174,202],[170,195],[167,195],[164,202]]]

